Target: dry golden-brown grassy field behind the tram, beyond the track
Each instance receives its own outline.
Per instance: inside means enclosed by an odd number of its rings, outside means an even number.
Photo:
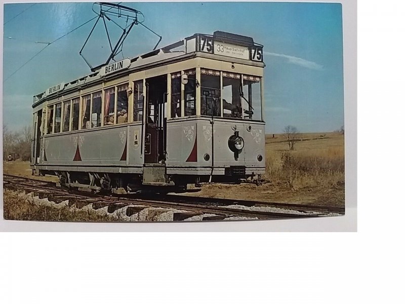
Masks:
[[[286,154],[299,160],[296,167],[287,163]],[[5,174],[56,181],[54,176],[32,176],[29,162],[4,162],[3,168]],[[289,151],[282,134],[268,134],[265,183],[205,184],[197,192],[193,185],[189,188],[193,190],[182,195],[344,206],[344,135],[301,134],[295,150]]]

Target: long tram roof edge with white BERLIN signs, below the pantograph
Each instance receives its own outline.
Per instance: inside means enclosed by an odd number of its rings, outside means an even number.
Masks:
[[[93,69],[92,73],[87,74],[82,78],[78,78],[69,83],[61,83],[48,88],[46,91],[33,96],[32,107],[41,104],[45,100],[60,96],[62,92],[63,94],[66,94],[66,92],[75,90],[77,88],[85,88],[95,83],[104,81],[105,79],[118,77],[123,73],[128,73],[128,71],[150,68],[156,64],[164,64],[166,61],[168,61],[169,63],[173,59],[184,60],[189,57],[193,57],[197,52],[200,52],[200,49],[197,50],[197,48],[200,48],[199,46],[197,46],[197,41],[198,39],[200,39],[199,37],[201,36],[212,39],[212,42],[221,42],[227,45],[241,46],[245,48],[253,46],[263,48],[262,45],[255,44],[253,39],[248,36],[242,36],[221,31],[216,31],[213,35],[194,34],[192,36],[186,37],[184,40],[139,55],[137,57],[126,58],[117,62],[110,63],[108,65],[98,66]],[[195,43],[193,41],[194,39]],[[192,44],[194,44],[194,46],[192,46]],[[192,47],[190,48],[190,46]],[[214,45],[212,45],[212,48],[214,48]]]

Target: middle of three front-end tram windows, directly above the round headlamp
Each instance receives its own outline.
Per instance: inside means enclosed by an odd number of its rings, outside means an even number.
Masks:
[[[242,118],[240,74],[222,73],[222,98],[224,117]]]

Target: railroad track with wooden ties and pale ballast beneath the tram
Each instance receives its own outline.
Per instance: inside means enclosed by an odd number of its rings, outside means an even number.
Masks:
[[[104,208],[113,213],[125,208],[125,214],[132,217],[141,211],[152,210],[154,214],[171,211],[172,220],[224,220],[224,219],[279,219],[321,217],[344,214],[344,208],[285,204],[277,202],[256,202],[232,199],[201,198],[184,195],[126,195],[104,196],[56,187],[54,182],[30,179],[21,176],[3,175],[4,187],[34,193],[39,198],[48,198],[55,204],[68,200],[70,206],[95,210]]]

